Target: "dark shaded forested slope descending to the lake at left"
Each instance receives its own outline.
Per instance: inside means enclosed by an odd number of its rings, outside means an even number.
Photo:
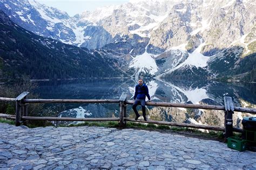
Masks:
[[[117,60],[34,35],[17,25],[5,24],[1,18],[0,30],[0,70],[5,80],[20,79],[24,74],[31,79],[120,76],[114,67]]]

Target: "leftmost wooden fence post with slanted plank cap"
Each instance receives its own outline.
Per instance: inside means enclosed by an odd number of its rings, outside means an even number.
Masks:
[[[21,125],[22,121],[21,121],[21,117],[22,117],[22,107],[23,107],[23,114],[27,113],[27,108],[24,108],[24,101],[22,101],[27,95],[29,94],[29,92],[23,92],[21,94],[19,94],[18,97],[16,97],[15,101],[16,101],[16,119],[15,119],[15,125],[19,126]]]

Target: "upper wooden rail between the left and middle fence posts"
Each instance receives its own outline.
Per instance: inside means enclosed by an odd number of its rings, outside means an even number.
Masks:
[[[118,99],[24,99],[24,103],[119,103]]]

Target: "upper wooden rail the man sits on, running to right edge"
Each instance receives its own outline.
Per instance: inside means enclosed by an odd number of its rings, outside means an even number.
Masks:
[[[126,104],[132,105],[134,100],[126,100]],[[163,106],[163,107],[183,107],[183,108],[202,108],[202,109],[211,109],[211,110],[225,110],[225,106],[217,105],[199,105],[199,104],[180,104],[180,103],[167,103],[167,102],[146,102],[147,106]],[[246,112],[246,113],[255,113],[255,108],[245,108],[245,107],[234,107],[234,111]]]

